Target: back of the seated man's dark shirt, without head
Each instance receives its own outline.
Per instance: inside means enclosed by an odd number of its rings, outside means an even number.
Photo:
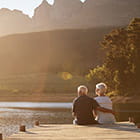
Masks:
[[[73,112],[76,114],[78,124],[97,123],[93,116],[93,110],[97,108],[98,103],[86,96],[79,96],[73,102]]]

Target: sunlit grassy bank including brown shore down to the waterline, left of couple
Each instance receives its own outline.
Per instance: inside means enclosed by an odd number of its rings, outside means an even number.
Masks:
[[[82,76],[68,72],[30,73],[0,77],[0,101],[71,102]]]

